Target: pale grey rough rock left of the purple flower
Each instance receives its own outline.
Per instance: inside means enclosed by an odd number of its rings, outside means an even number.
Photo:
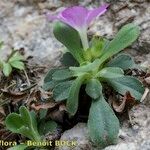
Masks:
[[[47,58],[49,63],[59,65],[61,44],[52,34],[52,24],[46,20],[44,12],[32,6],[19,5],[15,2],[0,2],[0,35],[4,41],[3,52],[11,48],[24,48],[27,55]],[[54,61],[55,60],[55,61]],[[57,60],[57,61],[56,61]]]

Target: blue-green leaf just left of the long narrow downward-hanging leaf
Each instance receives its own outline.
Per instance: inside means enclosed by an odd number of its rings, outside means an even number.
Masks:
[[[70,87],[73,81],[65,81],[57,84],[53,90],[53,98],[57,101],[62,101],[68,98]]]

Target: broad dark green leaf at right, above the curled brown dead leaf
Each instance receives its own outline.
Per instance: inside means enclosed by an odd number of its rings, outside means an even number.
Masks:
[[[124,95],[127,91],[137,100],[141,100],[144,87],[135,77],[124,76],[120,78],[107,79],[107,82],[120,94]]]

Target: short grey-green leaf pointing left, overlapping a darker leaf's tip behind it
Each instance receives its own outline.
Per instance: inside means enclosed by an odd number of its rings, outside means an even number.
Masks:
[[[72,72],[69,70],[69,69],[60,69],[60,70],[57,70],[55,71],[53,74],[52,74],[52,80],[66,80],[66,79],[69,79],[73,77],[73,74]]]

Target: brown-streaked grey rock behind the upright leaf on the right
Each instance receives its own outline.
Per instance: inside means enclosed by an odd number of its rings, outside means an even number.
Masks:
[[[135,23],[139,25],[141,34],[138,41],[132,48],[138,50],[142,54],[150,52],[150,3],[147,0],[133,2],[121,0],[111,1],[109,11],[104,16],[100,16],[91,25],[90,32],[100,36],[112,38],[116,32],[127,23]],[[99,1],[100,5],[104,1]],[[140,4],[140,7],[139,7]],[[107,17],[106,17],[107,16]],[[105,26],[104,26],[105,24]]]

